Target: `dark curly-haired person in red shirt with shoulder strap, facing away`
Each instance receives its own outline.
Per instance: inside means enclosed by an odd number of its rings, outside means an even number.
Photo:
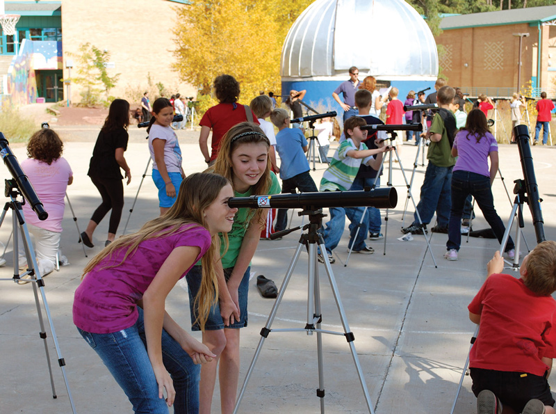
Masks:
[[[220,141],[228,130],[240,122],[254,122],[259,125],[255,114],[247,105],[238,104],[239,82],[229,74],[221,74],[214,79],[214,93],[219,104],[208,109],[201,118],[199,147],[208,166],[212,166],[220,149]],[[208,134],[213,132],[211,153],[208,153]]]

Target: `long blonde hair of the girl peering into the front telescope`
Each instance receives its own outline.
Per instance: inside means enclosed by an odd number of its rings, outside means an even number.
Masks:
[[[191,228],[208,229],[203,212],[218,198],[220,190],[227,184],[231,184],[230,181],[218,174],[189,175],[181,182],[177,200],[166,214],[147,221],[138,232],[122,236],[109,244],[85,266],[82,278],[99,266],[105,257],[111,257],[116,250],[126,249],[122,262],[106,264],[100,269],[119,266],[128,257],[133,257],[142,241],[170,236],[178,232],[184,224],[191,224]],[[224,244],[227,245],[226,234],[224,234]],[[199,310],[196,322],[203,330],[211,305],[218,299],[218,281],[214,269],[214,262],[218,261],[218,255],[220,255],[220,239],[218,234],[215,234],[212,237],[210,248],[202,257],[201,287],[195,297],[195,308]]]

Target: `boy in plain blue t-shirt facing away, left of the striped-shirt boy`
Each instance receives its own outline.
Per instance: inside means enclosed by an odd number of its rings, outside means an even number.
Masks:
[[[306,193],[316,193],[317,186],[309,175],[309,161],[305,152],[309,144],[299,128],[290,128],[290,116],[285,109],[277,108],[270,113],[270,120],[279,129],[276,134],[276,150],[280,156],[280,178],[282,193],[292,193],[295,189]],[[275,231],[286,229],[288,209],[278,209]]]

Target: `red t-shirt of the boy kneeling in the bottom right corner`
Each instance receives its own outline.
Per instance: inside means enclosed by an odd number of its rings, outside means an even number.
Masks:
[[[470,367],[545,374],[548,367],[541,358],[556,357],[552,296],[538,296],[523,280],[495,274],[486,279],[468,310],[481,315]]]

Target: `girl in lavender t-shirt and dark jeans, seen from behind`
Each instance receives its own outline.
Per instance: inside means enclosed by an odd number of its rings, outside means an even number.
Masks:
[[[486,116],[480,109],[473,109],[468,113],[465,128],[461,129],[454,139],[452,157],[459,157],[452,173],[452,209],[448,222],[448,242],[444,257],[447,260],[457,260],[457,253],[461,244],[461,230],[459,223],[464,211],[467,196],[471,194],[482,211],[486,221],[491,226],[499,242],[504,236],[505,227],[502,219],[494,209],[494,199],[491,185],[498,173],[498,143],[489,132]],[[489,170],[489,161],[491,166]],[[508,238],[506,253],[510,259],[514,258],[514,241]]]

